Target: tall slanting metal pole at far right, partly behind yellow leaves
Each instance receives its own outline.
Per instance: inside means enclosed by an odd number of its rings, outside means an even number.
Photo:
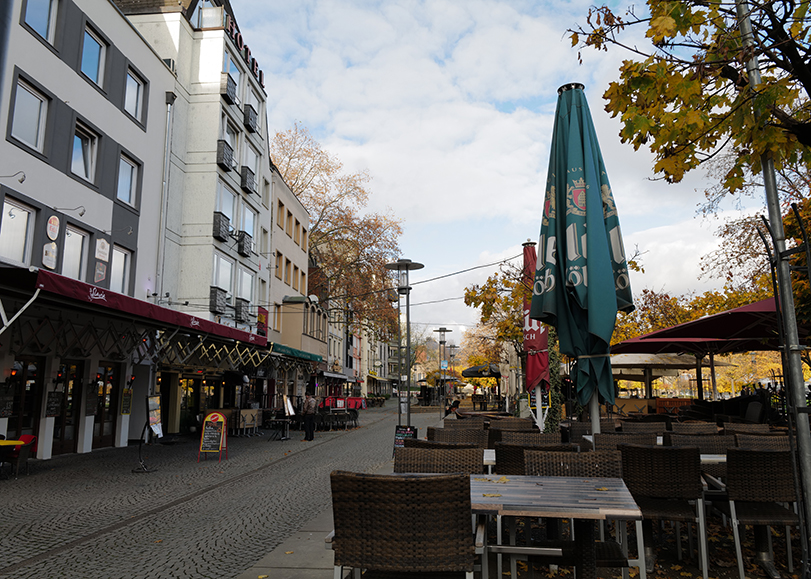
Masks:
[[[749,19],[749,4],[746,0],[735,0],[738,20],[741,28],[743,48],[752,56],[746,63],[749,73],[749,86],[755,91],[761,83],[760,68],[755,54],[755,39],[752,34],[752,22]],[[755,110],[758,117],[760,111]],[[783,229],[783,214],[780,211],[780,199],[777,196],[777,180],[774,174],[774,162],[764,153],[760,158],[763,167],[763,182],[766,189],[766,206],[769,211],[769,223],[774,236],[774,251],[777,256],[777,284],[780,298],[780,309],[783,312],[785,331],[785,351],[783,362],[786,366],[786,385],[795,409],[806,407],[805,380],[800,359],[800,339],[797,330],[797,315],[794,311],[794,294],[791,288],[791,270],[786,251],[786,235]],[[811,535],[811,429],[808,426],[808,414],[799,411],[796,414],[797,447],[800,465],[800,480],[805,504],[805,525]]]

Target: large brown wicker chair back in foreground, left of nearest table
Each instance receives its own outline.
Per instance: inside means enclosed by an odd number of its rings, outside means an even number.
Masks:
[[[335,471],[330,482],[334,577],[343,576],[343,567],[352,567],[366,569],[366,579],[405,573],[473,578],[476,546],[470,524],[469,476]],[[415,524],[419,533],[414,532]]]

